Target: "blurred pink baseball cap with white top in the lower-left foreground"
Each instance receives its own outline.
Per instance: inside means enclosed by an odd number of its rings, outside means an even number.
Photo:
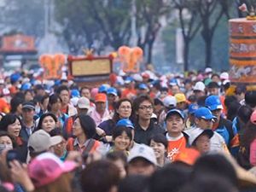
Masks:
[[[28,165],[28,175],[36,187],[54,182],[63,173],[71,172],[77,165],[73,161],[62,162],[55,154],[39,154]]]

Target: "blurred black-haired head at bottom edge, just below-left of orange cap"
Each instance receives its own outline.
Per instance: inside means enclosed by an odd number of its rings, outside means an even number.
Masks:
[[[191,167],[184,164],[167,164],[149,178],[150,192],[177,192],[190,179]]]

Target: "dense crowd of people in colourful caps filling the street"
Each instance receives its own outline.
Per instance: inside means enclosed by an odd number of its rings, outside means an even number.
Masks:
[[[0,80],[0,191],[256,191],[256,90],[228,73]]]

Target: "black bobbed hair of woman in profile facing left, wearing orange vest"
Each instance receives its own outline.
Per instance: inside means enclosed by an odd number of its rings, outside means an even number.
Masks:
[[[89,139],[94,137],[96,135],[96,123],[94,119],[92,119],[89,115],[83,113],[79,114],[75,119],[78,118],[80,120],[80,124],[86,138]]]

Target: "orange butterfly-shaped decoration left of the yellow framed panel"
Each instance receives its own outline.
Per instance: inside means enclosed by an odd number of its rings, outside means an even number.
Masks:
[[[39,63],[44,68],[44,79],[61,79],[62,67],[66,62],[66,55],[41,55]]]

